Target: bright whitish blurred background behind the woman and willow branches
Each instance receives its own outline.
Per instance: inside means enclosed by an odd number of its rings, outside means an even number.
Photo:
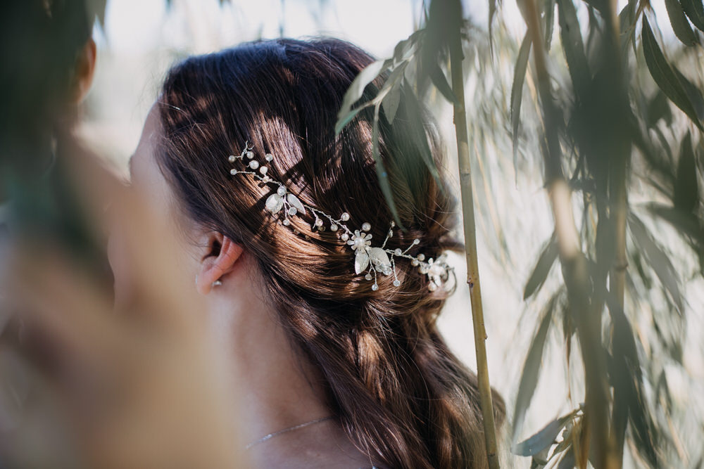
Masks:
[[[702,89],[701,47],[689,55],[681,53],[666,2],[650,2],[653,11],[649,14],[654,20],[651,24],[665,53],[677,58],[681,70]],[[472,24],[465,51],[465,97],[489,377],[491,385],[505,397],[509,416],[515,415],[521,377],[524,368],[529,368],[527,354],[540,335],[546,305],[551,304],[562,284],[558,264],[551,262],[546,267],[543,262],[543,268],[537,269],[543,271],[538,274],[541,278],[536,280],[535,274],[554,223],[539,157],[538,91],[530,74],[523,91],[520,127],[514,127],[512,119],[516,61],[527,30],[523,3],[504,0],[495,4],[491,32],[489,13],[494,4],[484,0],[463,3],[465,16]],[[627,4],[618,2],[619,11]],[[551,5],[555,8],[554,1]],[[100,6],[96,8],[101,10]],[[96,77],[82,108],[77,132],[116,171],[126,174],[127,160],[137,146],[158,86],[176,60],[259,37],[318,34],[348,39],[377,58],[386,58],[392,55],[398,41],[422,25],[425,8],[426,2],[417,0],[108,0],[104,15],[99,14],[93,30],[98,46]],[[589,2],[576,2],[576,12],[586,36],[591,28]],[[557,42],[558,20],[551,26]],[[642,54],[640,49],[639,53]],[[558,44],[550,49],[548,57],[552,58],[551,74],[556,86],[564,85],[570,75]],[[645,65],[634,68],[634,76],[644,81],[643,89],[655,93],[647,70],[642,71]],[[441,124],[451,153],[451,172],[447,176],[459,191],[452,105],[434,89],[429,91],[426,103]],[[684,132],[692,128],[677,113],[662,126],[662,140],[672,143],[675,149]],[[600,137],[594,134],[591,138]],[[701,145],[696,144],[700,138],[694,141],[700,176],[703,152]],[[634,163],[633,171],[640,175],[633,177],[629,187],[629,204],[634,211],[645,210],[646,204],[654,202],[667,203],[662,191],[643,182],[650,174],[648,167]],[[574,207],[575,212],[582,212],[581,196],[575,195]],[[669,259],[670,265],[667,274],[661,275],[653,266],[634,264],[634,270],[639,272],[632,274],[634,278],[629,283],[627,315],[642,360],[646,406],[658,428],[667,435],[665,451],[669,459],[665,461],[669,462],[662,467],[702,467],[704,279],[700,259],[676,226],[656,217],[643,217],[643,224],[648,232],[656,233],[653,238],[658,252]],[[628,243],[629,252],[634,246],[636,252],[639,250],[631,238]],[[451,262],[463,283],[464,257],[451,257]],[[527,288],[531,278],[539,288]],[[469,304],[467,288],[458,288],[448,301],[440,324],[452,349],[476,369]],[[515,436],[517,440],[533,435],[549,421],[578,408],[584,400],[584,369],[577,345],[570,353],[570,348],[565,347],[562,319],[554,315],[550,320],[554,327],[547,330],[542,353],[537,356],[538,379],[527,397],[529,405],[526,404],[524,421]],[[648,465],[638,454],[636,444],[629,442],[624,467]],[[529,468],[531,464],[530,457],[513,456],[508,467]]]

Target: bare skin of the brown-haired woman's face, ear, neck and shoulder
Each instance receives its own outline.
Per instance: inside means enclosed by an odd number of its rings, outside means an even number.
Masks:
[[[316,369],[287,340],[263,292],[260,272],[246,250],[222,233],[187,219],[154,157],[160,137],[158,110],[152,106],[137,150],[130,160],[130,186],[153,213],[168,217],[179,249],[181,285],[203,295],[205,314],[213,325],[213,341],[227,351],[239,399],[236,415],[244,442],[271,432],[331,415]],[[130,265],[120,248],[119,224],[108,243],[115,274],[116,302],[130,301]],[[222,285],[213,286],[220,281]],[[251,447],[249,456],[265,468],[370,468],[335,420],[325,420],[276,435]],[[378,468],[381,466],[377,463]]]

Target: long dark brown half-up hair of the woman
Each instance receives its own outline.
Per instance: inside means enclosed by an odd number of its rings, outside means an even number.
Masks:
[[[431,291],[427,276],[401,258],[401,285],[379,276],[372,290],[355,274],[349,246],[311,229],[312,214],[284,226],[265,210],[271,186],[230,175],[227,155],[249,141],[254,153],[275,155],[268,174],[303,203],[336,217],[347,212],[349,225],[368,222],[372,239],[383,240],[393,217],[377,181],[371,108],[334,132],[346,90],[373,60],[332,38],[253,41],[187,58],[163,85],[158,162],[189,217],[257,259],[272,307],[322,373],[332,410],[360,449],[393,468],[481,468],[477,379],[436,328],[455,285]],[[364,101],[386,77],[367,86]],[[380,156],[408,229],[396,229],[386,248],[405,249],[418,238],[409,255],[461,252],[455,199],[422,163],[408,112],[401,100],[393,125],[383,111],[379,119]],[[421,122],[443,169],[444,148],[425,110]],[[494,403],[501,423],[496,393]]]

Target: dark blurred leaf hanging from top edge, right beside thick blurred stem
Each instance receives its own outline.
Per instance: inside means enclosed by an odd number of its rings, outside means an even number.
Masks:
[[[578,98],[584,98],[591,80],[591,73],[584,53],[584,41],[582,41],[582,31],[579,30],[577,11],[574,9],[572,0],[558,0],[558,20],[562,49],[565,51],[567,68],[569,68],[570,77],[572,77],[574,94]]]

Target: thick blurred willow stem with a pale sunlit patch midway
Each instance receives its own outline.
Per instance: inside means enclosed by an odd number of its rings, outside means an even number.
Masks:
[[[609,437],[608,410],[610,392],[606,382],[606,364],[601,342],[602,304],[590,304],[590,276],[586,257],[581,249],[579,232],[572,213],[572,191],[562,172],[562,149],[558,136],[558,114],[552,101],[543,35],[535,0],[526,0],[526,23],[532,37],[538,90],[543,108],[543,126],[546,136],[545,183],[555,219],[562,276],[567,286],[570,309],[577,320],[579,346],[584,361],[586,397],[586,441],[594,442],[597,468],[614,468]],[[586,467],[589,446],[577,454],[577,465]]]

